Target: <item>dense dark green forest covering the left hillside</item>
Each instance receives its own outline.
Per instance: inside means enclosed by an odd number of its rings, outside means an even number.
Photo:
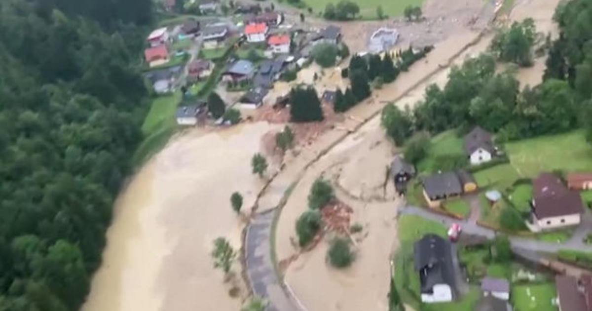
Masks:
[[[151,0],[0,1],[0,310],[77,310],[130,172]]]

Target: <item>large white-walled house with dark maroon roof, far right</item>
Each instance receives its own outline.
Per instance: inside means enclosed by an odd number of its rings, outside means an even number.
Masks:
[[[580,223],[584,211],[580,193],[569,190],[552,173],[542,173],[533,181],[531,230],[556,229]]]

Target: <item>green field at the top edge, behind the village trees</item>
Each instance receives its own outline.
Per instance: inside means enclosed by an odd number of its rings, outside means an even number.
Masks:
[[[334,4],[336,5],[337,0],[302,0],[308,7],[313,8],[313,12],[316,14],[318,12],[324,11],[327,4]],[[378,5],[382,6],[382,10],[384,11],[385,15],[389,17],[395,17],[398,15],[403,15],[403,10],[407,5],[413,6],[421,6],[423,4],[423,0],[397,0],[397,1],[381,1],[381,0],[353,0],[356,4],[360,7],[360,15],[362,19],[377,19],[376,8]]]

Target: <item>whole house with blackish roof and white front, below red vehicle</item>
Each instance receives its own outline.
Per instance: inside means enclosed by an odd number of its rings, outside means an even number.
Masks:
[[[454,268],[450,242],[434,234],[424,235],[413,245],[413,259],[422,302],[452,301]]]

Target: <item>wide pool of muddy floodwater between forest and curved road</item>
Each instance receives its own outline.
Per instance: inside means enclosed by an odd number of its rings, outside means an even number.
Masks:
[[[238,310],[241,297],[229,297],[231,285],[209,254],[218,236],[240,248],[244,222],[231,210],[230,194],[243,194],[243,210],[254,203],[263,182],[251,174],[250,159],[272,129],[261,122],[188,132],[147,163],[115,204],[82,310]],[[233,271],[240,272],[238,262]],[[244,297],[243,282],[237,286]]]

